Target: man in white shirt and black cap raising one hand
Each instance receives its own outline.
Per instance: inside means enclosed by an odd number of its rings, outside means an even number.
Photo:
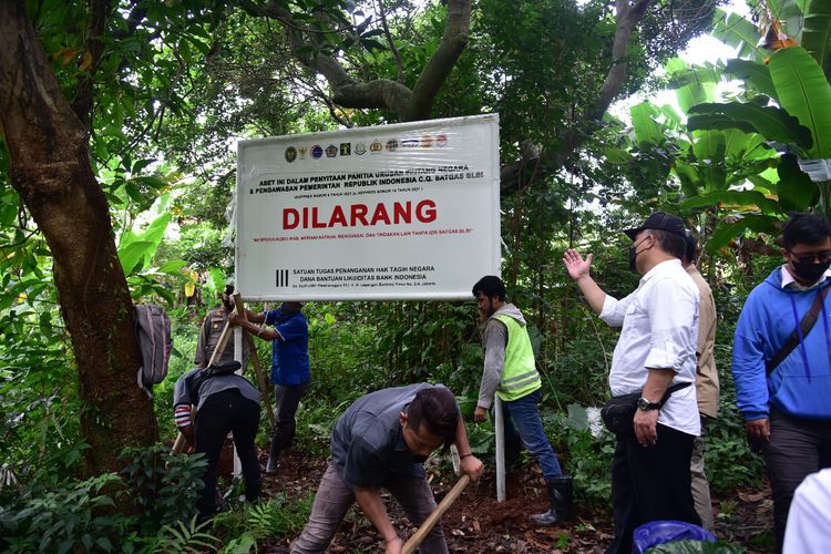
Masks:
[[[574,249],[563,255],[568,275],[592,309],[622,327],[609,373],[615,396],[642,392],[632,433],[617,438],[612,464],[615,541],[609,553],[632,551],[635,529],[655,520],[700,524],[690,491],[693,440],[700,431],[696,389],[685,386],[664,402],[671,386],[694,383],[699,293],[681,267],[687,230],[678,216],[656,212],[624,233],[633,239],[630,269],[638,288],[617,300],[589,275]]]

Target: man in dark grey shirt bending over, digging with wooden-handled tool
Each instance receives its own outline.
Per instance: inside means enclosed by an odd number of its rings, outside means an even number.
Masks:
[[[293,553],[324,552],[352,505],[369,517],[384,541],[384,552],[397,554],[403,542],[381,500],[387,489],[414,525],[435,509],[422,463],[432,451],[455,444],[461,471],[475,481],[482,462],[470,449],[459,406],[441,384],[410,384],[370,392],[352,403],[335,423],[331,458],[315,495],[309,522],[291,545]],[[419,551],[447,553],[441,524]]]

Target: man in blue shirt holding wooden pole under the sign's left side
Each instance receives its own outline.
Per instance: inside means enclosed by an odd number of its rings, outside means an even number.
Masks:
[[[246,314],[234,315],[229,320],[252,335],[271,341],[271,383],[275,386],[277,417],[266,473],[276,473],[280,452],[290,447],[295,438],[297,407],[309,388],[309,325],[301,302],[283,302],[278,309],[263,314],[246,310]]]

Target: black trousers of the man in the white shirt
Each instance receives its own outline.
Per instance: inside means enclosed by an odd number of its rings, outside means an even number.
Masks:
[[[607,553],[630,553],[633,533],[650,521],[701,524],[690,490],[693,439],[661,424],[652,447],[642,447],[635,435],[618,438],[612,461],[615,541]]]

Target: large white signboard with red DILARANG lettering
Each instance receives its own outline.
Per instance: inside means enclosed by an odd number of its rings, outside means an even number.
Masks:
[[[247,300],[471,297],[500,275],[499,116],[240,142]]]

